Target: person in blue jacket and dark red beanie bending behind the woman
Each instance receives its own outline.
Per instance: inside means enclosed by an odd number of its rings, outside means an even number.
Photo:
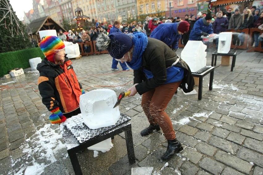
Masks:
[[[162,23],[152,31],[150,38],[158,39],[167,44],[174,52],[178,49],[181,35],[189,30],[189,22]]]

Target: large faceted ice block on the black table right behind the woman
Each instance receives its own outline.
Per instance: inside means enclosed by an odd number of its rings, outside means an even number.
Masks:
[[[207,46],[202,41],[188,41],[181,52],[181,58],[188,64],[192,72],[207,65]]]

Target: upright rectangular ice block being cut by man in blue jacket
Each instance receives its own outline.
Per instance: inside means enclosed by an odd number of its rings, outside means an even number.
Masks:
[[[227,54],[230,51],[232,32],[219,33],[217,53]]]

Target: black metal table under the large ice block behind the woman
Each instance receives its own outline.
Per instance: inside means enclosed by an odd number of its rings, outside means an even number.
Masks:
[[[210,73],[210,80],[209,80],[209,90],[213,89],[213,80],[214,80],[214,71],[215,67],[205,66],[202,69],[199,69],[196,72],[192,72],[193,77],[199,78],[198,83],[198,100],[202,99],[202,91],[203,91],[203,77]]]

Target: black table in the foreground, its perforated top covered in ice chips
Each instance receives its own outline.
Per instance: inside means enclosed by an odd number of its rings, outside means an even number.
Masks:
[[[131,120],[130,117],[121,114],[120,119],[115,125],[98,129],[90,129],[87,127],[86,124],[83,123],[81,114],[72,116],[71,120],[72,122],[69,124],[61,124],[60,130],[76,175],[82,175],[76,153],[103,140],[113,138],[122,132],[125,132],[129,163],[130,165],[135,163],[131,123],[129,122],[129,120]]]

